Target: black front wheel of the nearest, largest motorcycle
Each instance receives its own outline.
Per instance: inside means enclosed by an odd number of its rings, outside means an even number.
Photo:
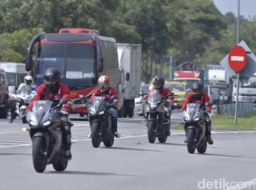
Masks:
[[[47,144],[44,137],[34,137],[32,157],[35,171],[44,172],[47,165]]]

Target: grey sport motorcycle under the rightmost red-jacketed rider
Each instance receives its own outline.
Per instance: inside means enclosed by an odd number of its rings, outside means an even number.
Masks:
[[[199,103],[188,103],[186,110],[182,112],[184,130],[186,133],[187,151],[193,154],[197,148],[199,153],[205,153],[207,149],[207,141],[205,136],[206,118],[204,117],[205,107],[211,106],[208,102],[202,108]],[[175,104],[175,106],[178,106]],[[179,106],[180,107],[180,106]],[[181,107],[180,107],[181,108]]]

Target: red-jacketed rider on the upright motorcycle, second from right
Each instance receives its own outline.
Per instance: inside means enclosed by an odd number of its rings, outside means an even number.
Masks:
[[[163,88],[164,86],[164,78],[161,77],[161,76],[155,76],[153,78],[153,86],[154,88],[151,89],[151,90],[154,90],[154,89],[157,89],[160,91],[160,96],[161,97],[164,97],[164,96],[167,96],[169,93],[172,93],[172,91],[170,91],[168,88]],[[146,96],[144,96],[141,100],[146,100],[148,98],[148,96],[150,95],[150,91],[147,93]],[[170,110],[170,108],[168,107],[168,103],[171,102],[175,97],[174,96],[169,96],[167,98],[167,101],[165,103],[165,107],[164,107],[164,110],[165,110],[165,118],[167,118],[167,115],[166,115],[166,112],[169,112],[169,113],[172,113],[172,111]],[[148,118],[148,112],[146,112],[146,118]],[[167,118],[169,119],[169,118]],[[162,122],[162,121],[161,121]],[[167,134],[167,137],[170,135],[170,125],[168,126],[165,126],[165,131],[166,131],[166,134]]]

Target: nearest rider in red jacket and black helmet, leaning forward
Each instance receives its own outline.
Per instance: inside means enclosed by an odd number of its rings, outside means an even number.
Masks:
[[[70,160],[71,155],[71,123],[69,122],[68,114],[71,109],[71,98],[69,88],[60,84],[60,72],[54,67],[50,67],[44,72],[44,84],[40,85],[36,90],[36,93],[29,104],[28,110],[25,113],[28,113],[32,107],[33,102],[37,100],[50,100],[53,101],[53,106],[56,106],[60,99],[68,98],[68,103],[64,104],[61,107],[60,120],[61,120],[61,130],[63,134],[63,143],[65,149],[66,159]]]

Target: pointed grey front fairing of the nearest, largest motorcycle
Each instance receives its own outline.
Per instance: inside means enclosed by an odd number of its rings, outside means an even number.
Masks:
[[[45,122],[48,118],[44,118],[47,116],[49,111],[51,110],[52,101],[49,100],[38,100],[33,103],[33,114],[35,116],[36,125],[39,123]]]

